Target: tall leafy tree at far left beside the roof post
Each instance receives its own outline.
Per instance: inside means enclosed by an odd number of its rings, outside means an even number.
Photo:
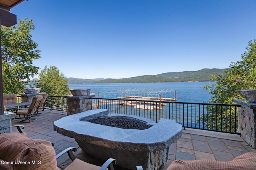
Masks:
[[[32,18],[19,20],[13,27],[1,25],[4,94],[19,94],[25,87],[22,80],[30,80],[38,74],[39,68],[32,64],[40,58],[38,45],[31,39],[33,29]]]

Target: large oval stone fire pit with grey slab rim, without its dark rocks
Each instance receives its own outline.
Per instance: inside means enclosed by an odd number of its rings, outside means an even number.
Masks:
[[[102,116],[127,116],[153,126],[144,130],[122,129],[88,121]],[[115,158],[117,165],[123,168],[135,169],[137,165],[142,165],[147,170],[163,168],[170,145],[182,135],[182,125],[172,120],[160,119],[155,123],[133,115],[108,115],[107,109],[89,110],[63,117],[54,121],[54,130],[74,138],[88,154],[103,160]]]

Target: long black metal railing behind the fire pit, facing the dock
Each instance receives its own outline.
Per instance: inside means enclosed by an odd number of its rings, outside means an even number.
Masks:
[[[238,107],[240,105],[92,98],[92,109],[108,109],[109,114],[136,115],[156,122],[162,118],[172,119],[184,128],[235,134],[240,134]]]

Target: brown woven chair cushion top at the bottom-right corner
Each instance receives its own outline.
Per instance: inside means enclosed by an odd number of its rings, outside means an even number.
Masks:
[[[167,170],[255,170],[256,152],[242,154],[231,161],[174,160]]]

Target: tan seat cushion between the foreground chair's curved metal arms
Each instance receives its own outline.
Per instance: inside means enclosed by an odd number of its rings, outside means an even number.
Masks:
[[[99,170],[100,166],[96,166],[94,164],[89,164],[87,162],[84,162],[80,159],[75,159],[71,164],[69,164],[65,170]],[[108,168],[107,168],[108,170]]]

